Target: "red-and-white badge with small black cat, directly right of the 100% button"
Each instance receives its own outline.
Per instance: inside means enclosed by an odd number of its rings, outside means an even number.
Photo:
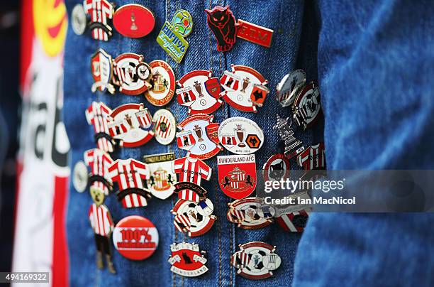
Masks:
[[[196,277],[208,271],[206,264],[206,252],[200,251],[199,244],[187,242],[174,243],[170,245],[172,256],[169,263],[172,265],[170,271],[185,277]]]

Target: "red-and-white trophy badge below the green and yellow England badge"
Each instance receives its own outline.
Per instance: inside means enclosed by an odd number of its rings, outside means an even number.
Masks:
[[[211,114],[223,104],[220,82],[211,75],[211,70],[194,70],[177,81],[177,101],[189,114]]]

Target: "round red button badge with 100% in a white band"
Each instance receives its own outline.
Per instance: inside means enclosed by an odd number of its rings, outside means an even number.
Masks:
[[[113,244],[128,259],[147,259],[158,247],[158,231],[145,217],[124,217],[113,229]]]

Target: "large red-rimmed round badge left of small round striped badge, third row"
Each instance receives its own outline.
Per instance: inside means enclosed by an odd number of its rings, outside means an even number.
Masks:
[[[121,139],[123,146],[132,148],[148,143],[154,136],[152,116],[143,104],[123,104],[110,114],[110,136]]]

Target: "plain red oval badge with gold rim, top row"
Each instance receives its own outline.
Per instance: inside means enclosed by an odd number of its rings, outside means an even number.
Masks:
[[[119,7],[113,16],[113,26],[128,38],[141,38],[154,29],[155,17],[152,11],[138,4]]]

